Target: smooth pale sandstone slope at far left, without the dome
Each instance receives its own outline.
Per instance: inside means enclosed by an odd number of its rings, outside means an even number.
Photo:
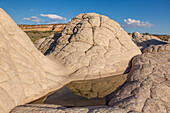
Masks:
[[[70,82],[69,73],[42,55],[0,9],[0,113],[59,89]]]

